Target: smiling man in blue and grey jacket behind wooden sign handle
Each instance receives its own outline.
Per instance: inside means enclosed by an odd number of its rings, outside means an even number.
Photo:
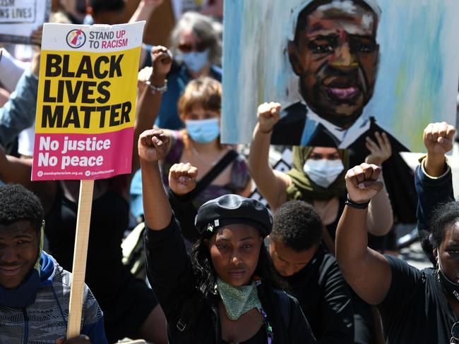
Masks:
[[[107,343],[102,311],[85,285],[81,336],[66,340],[71,274],[42,250],[40,200],[0,186],[0,343]]]

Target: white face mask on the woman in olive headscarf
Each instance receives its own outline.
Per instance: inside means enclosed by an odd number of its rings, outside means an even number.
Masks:
[[[303,171],[311,180],[322,188],[328,188],[344,170],[340,159],[307,159]]]

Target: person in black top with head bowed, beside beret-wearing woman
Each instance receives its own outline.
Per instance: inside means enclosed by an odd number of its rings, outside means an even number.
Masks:
[[[266,238],[275,269],[290,285],[320,343],[354,343],[351,295],[335,257],[321,245],[322,221],[306,202],[275,212]]]

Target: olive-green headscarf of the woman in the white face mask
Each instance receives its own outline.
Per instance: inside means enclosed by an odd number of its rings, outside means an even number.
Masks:
[[[345,175],[349,169],[349,155],[346,149],[338,149],[338,154],[345,169],[340,176],[328,187],[322,188],[316,185],[303,172],[303,166],[311,155],[314,147],[293,147],[292,169],[287,174],[292,178],[292,184],[287,188],[287,200],[303,200],[311,202],[312,199],[328,201],[333,197],[340,197],[346,190]]]

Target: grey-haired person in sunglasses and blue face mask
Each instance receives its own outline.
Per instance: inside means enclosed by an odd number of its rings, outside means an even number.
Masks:
[[[166,77],[167,91],[162,95],[160,112],[155,123],[157,127],[172,130],[184,128],[177,103],[191,80],[204,76],[222,80],[222,42],[219,27],[220,23],[196,12],[185,13],[175,25],[170,38],[174,61]],[[149,65],[150,61],[145,61],[145,64]]]

